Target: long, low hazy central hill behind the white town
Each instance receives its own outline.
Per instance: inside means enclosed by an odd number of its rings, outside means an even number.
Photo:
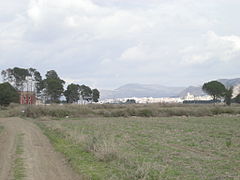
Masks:
[[[101,99],[131,97],[177,97],[185,87],[167,87],[153,84],[126,84],[115,90],[101,90]]]

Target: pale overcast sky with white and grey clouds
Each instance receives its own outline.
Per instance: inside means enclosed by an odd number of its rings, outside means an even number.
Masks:
[[[240,78],[239,0],[0,0],[0,69],[69,83],[201,85]]]

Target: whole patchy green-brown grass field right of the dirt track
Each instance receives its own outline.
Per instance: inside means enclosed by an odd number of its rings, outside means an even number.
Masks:
[[[90,179],[240,179],[237,116],[36,122]]]

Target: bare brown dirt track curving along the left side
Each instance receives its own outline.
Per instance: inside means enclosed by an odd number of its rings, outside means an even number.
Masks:
[[[20,118],[0,119],[4,126],[0,134],[0,180],[10,180],[14,162],[16,135],[23,133],[23,158],[26,180],[80,180],[56,153],[46,136],[32,122]]]

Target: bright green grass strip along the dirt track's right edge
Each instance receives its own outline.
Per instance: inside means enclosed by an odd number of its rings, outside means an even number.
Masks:
[[[46,127],[43,123],[38,122],[37,125],[50,139],[56,151],[63,153],[72,167],[86,178],[106,179],[112,174],[118,173],[114,167],[105,162],[97,161],[90,152],[69,139],[61,131]]]

